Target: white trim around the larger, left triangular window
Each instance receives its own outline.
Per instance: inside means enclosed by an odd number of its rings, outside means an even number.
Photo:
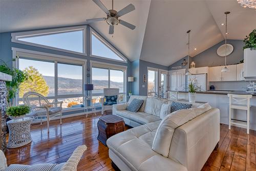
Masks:
[[[46,48],[46,49],[57,50],[57,51],[61,51],[61,52],[67,52],[67,53],[73,53],[73,54],[79,54],[79,55],[87,56],[86,28],[87,28],[87,26],[75,26],[75,27],[65,27],[65,28],[57,28],[57,29],[47,29],[47,30],[37,30],[37,31],[11,33],[11,37],[12,37],[11,41],[19,43],[19,44],[25,44],[25,45],[35,46],[35,47],[39,47],[39,48]],[[50,46],[46,46],[46,45],[35,44],[35,43],[32,43],[32,42],[22,41],[22,40],[17,39],[19,37],[28,37],[28,36],[36,36],[36,35],[49,35],[49,34],[54,34],[54,33],[70,32],[70,31],[78,31],[78,30],[83,31],[83,53],[75,52],[75,51],[71,51],[71,50],[66,50],[66,49],[61,49],[61,48],[54,48],[54,47],[50,47]]]

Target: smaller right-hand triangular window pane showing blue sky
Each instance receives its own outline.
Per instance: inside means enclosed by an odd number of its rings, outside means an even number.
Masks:
[[[107,46],[103,40],[98,38],[98,36],[92,35],[92,55],[100,56],[114,60],[125,61],[123,57],[120,57],[116,52],[114,52],[109,46]]]

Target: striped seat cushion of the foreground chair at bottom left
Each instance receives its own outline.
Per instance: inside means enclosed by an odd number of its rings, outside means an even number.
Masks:
[[[60,164],[35,164],[35,165],[23,165],[23,164],[11,164],[5,171],[59,171],[65,163]]]

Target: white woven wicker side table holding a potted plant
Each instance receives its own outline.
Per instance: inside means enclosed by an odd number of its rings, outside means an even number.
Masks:
[[[15,119],[7,122],[9,127],[9,140],[7,148],[17,148],[32,141],[30,124],[32,118]]]

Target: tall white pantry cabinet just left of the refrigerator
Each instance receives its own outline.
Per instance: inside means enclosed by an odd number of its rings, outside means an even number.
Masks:
[[[185,69],[169,71],[169,90],[185,91]]]

